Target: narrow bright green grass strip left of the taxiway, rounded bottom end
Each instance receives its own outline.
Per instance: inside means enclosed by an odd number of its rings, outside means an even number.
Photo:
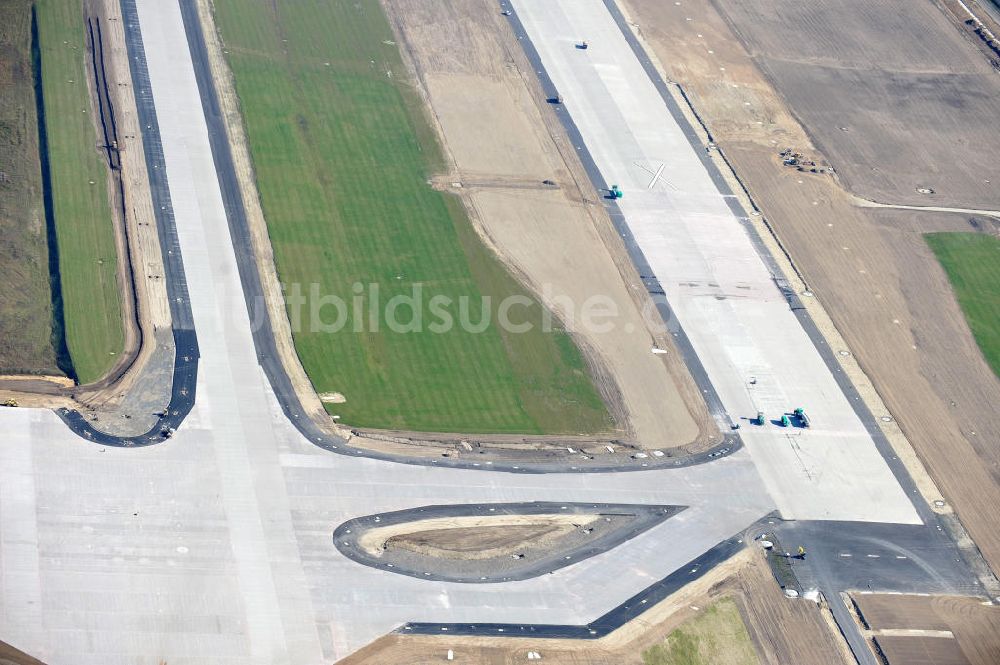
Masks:
[[[38,0],[36,12],[66,345],[88,383],[125,343],[108,172],[91,117],[82,4]]]

